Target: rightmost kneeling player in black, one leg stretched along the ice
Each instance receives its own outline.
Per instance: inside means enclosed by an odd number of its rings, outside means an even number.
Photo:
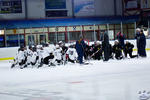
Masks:
[[[134,45],[131,44],[129,41],[126,41],[125,48],[124,48],[125,57],[127,57],[127,54],[129,54],[130,58],[137,57],[137,55],[132,55],[133,48],[134,48]]]

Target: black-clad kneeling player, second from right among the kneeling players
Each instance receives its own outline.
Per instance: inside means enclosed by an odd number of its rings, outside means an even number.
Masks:
[[[113,46],[113,53],[115,54],[115,58],[118,59],[118,60],[123,58],[121,49],[122,49],[122,47],[119,44],[119,42],[115,41],[115,44]]]

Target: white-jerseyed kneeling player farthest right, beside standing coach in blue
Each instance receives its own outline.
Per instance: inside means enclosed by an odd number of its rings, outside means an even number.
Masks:
[[[68,62],[75,63],[77,60],[77,52],[74,45],[69,46],[66,52],[66,59]]]

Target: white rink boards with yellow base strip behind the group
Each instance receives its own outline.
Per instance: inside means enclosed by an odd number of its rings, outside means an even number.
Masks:
[[[130,41],[132,44],[134,44],[134,51],[137,50],[136,48],[136,40],[126,40]],[[110,41],[110,43],[113,45],[114,41]],[[146,50],[150,50],[150,39],[147,39],[146,42]],[[6,47],[6,48],[0,48],[0,61],[1,60],[13,60],[17,50],[19,47]]]

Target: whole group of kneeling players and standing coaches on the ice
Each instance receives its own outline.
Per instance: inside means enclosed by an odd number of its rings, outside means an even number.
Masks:
[[[43,45],[34,45],[24,47],[20,46],[14,62],[13,67],[42,67],[43,65],[56,66],[70,63],[88,64],[85,61],[89,60],[103,60],[109,59],[120,60],[126,58],[129,54],[130,58],[134,57],[146,57],[146,38],[143,30],[138,29],[136,32],[137,40],[137,55],[132,55],[134,45],[129,41],[124,42],[125,36],[121,33],[117,33],[117,39],[112,46],[109,43],[109,37],[107,32],[103,31],[101,34],[101,42],[95,41],[94,44],[88,45],[83,36],[80,35],[79,40],[76,43],[70,43],[66,46],[65,43],[59,41],[54,45],[45,43]],[[84,61],[83,61],[84,60]]]

